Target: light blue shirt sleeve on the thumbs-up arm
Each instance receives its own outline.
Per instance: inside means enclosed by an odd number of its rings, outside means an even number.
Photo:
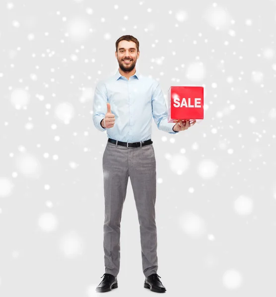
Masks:
[[[101,126],[101,120],[107,112],[107,91],[104,82],[100,81],[96,85],[93,99],[93,122],[94,126],[99,131],[106,131],[106,128]]]

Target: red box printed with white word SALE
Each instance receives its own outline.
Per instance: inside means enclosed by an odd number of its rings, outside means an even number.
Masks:
[[[203,87],[170,87],[168,91],[168,122],[203,119],[203,97]]]

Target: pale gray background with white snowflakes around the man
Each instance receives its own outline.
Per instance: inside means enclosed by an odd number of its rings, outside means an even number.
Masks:
[[[107,135],[92,102],[127,34],[166,100],[170,86],[205,88],[187,131],[152,121],[166,296],[275,296],[275,28],[275,0],[1,0],[0,296],[99,295]],[[143,281],[129,181],[106,294],[153,296]]]

